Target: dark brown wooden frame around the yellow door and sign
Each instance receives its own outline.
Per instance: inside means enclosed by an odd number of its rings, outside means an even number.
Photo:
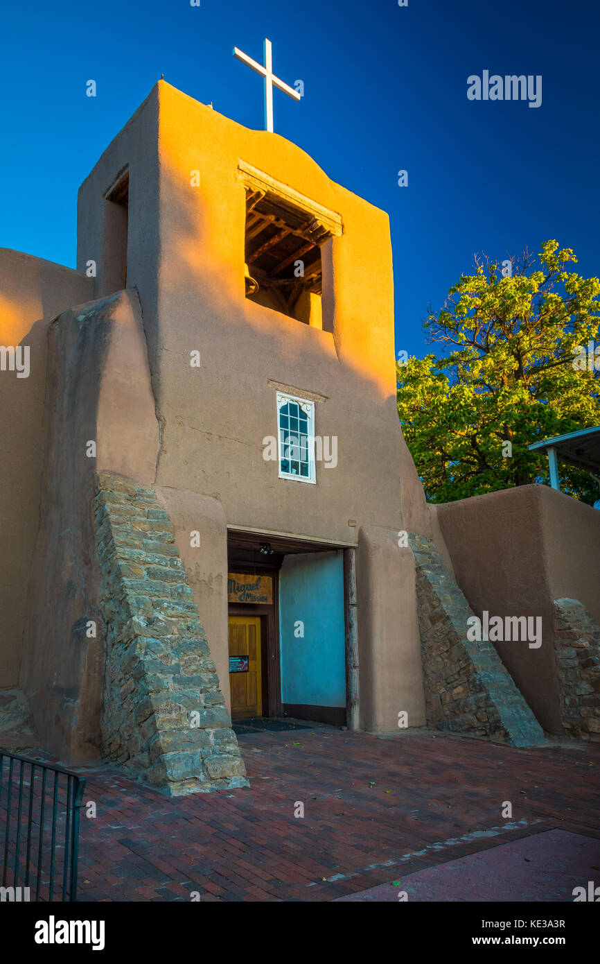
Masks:
[[[244,573],[251,567],[248,563],[234,564],[230,572]],[[228,616],[260,616],[261,669],[263,687],[263,716],[282,716],[281,707],[281,659],[279,656],[279,572],[262,569],[261,574],[273,577],[273,604],[228,603]]]

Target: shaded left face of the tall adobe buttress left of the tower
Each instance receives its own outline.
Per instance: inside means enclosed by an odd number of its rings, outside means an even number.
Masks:
[[[104,631],[93,518],[96,460],[88,453],[98,437],[117,300],[65,311],[48,329],[44,484],[21,684],[44,748],[67,763],[99,758]]]

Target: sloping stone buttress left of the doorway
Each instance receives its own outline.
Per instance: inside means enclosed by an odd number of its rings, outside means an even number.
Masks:
[[[105,760],[170,795],[248,787],[169,516],[151,489],[99,472],[95,519]]]

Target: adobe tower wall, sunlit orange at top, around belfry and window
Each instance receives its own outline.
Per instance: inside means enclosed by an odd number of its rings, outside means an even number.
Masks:
[[[343,234],[323,253],[327,330],[245,297],[241,160],[341,216]],[[410,550],[403,555],[398,532],[422,532],[450,560],[398,420],[387,215],[329,180],[299,147],[248,130],[161,81],[82,185],[82,266],[94,252],[101,257],[103,195],[125,165],[127,284],[140,295],[160,423],[155,490],[173,518],[220,676],[227,669],[227,525],[338,547],[378,529],[387,561],[362,551],[357,575],[364,723],[395,727],[399,694],[423,722],[414,563],[404,559]],[[199,186],[192,186],[196,171]],[[199,368],[190,365],[193,351]],[[317,485],[281,480],[276,461],[263,459],[263,440],[277,434],[277,387],[322,398],[315,432],[337,437],[338,464],[319,463]],[[201,558],[190,548],[191,529],[201,532]],[[375,573],[372,596],[365,587]],[[371,660],[394,668],[381,677]],[[404,696],[413,684],[414,695]]]

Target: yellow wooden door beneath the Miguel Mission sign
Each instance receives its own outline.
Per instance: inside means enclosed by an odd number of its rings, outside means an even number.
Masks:
[[[262,716],[260,616],[229,616],[231,718]]]

